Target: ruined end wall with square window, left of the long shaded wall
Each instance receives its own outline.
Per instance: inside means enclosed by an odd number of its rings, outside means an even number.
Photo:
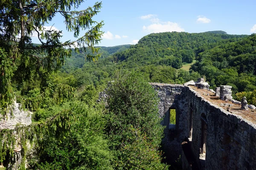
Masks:
[[[169,161],[176,161],[181,153],[181,142],[188,133],[187,113],[188,103],[185,95],[185,86],[169,85],[160,83],[151,83],[152,87],[158,92],[160,98],[159,115],[164,120],[163,125],[166,126],[164,139],[162,140],[165,156],[171,158]],[[169,130],[169,109],[176,109],[176,126],[175,130]]]

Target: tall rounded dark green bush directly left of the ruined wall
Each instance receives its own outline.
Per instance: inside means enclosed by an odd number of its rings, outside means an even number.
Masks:
[[[119,71],[107,94],[105,131],[116,150],[116,168],[166,169],[157,150],[164,127],[158,117],[159,99],[151,85],[141,74]]]

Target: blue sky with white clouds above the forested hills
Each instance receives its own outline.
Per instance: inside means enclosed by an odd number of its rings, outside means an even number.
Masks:
[[[95,2],[86,0],[79,9]],[[101,12],[94,20],[105,23],[99,45],[115,46],[135,44],[153,32],[256,33],[255,8],[255,0],[102,0]],[[54,24],[56,29],[63,30],[62,41],[75,40],[63,21],[61,16],[56,16],[46,26]]]

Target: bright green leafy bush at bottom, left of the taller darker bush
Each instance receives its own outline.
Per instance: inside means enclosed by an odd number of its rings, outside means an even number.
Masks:
[[[37,145],[34,153],[29,156],[29,168],[112,169],[113,156],[103,135],[105,122],[102,119],[102,110],[74,100],[45,109],[45,112],[54,114],[61,110],[71,110],[78,121],[70,122],[70,132],[61,142],[55,136],[44,136],[42,143]]]

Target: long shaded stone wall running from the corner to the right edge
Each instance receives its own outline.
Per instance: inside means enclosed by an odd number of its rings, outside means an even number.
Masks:
[[[256,125],[186,88],[188,102],[194,107],[192,150],[196,160],[200,154],[201,115],[204,113],[207,119],[205,169],[256,168]]]

